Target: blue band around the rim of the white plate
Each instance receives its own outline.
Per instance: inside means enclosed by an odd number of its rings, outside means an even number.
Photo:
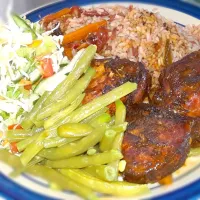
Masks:
[[[35,9],[33,11],[30,11],[29,13],[26,14],[27,19],[35,22],[38,21],[41,17],[50,14],[52,12],[56,12],[64,7],[70,7],[72,5],[88,5],[88,4],[97,4],[97,3],[112,3],[112,2],[130,2],[130,3],[143,3],[143,4],[152,4],[152,5],[157,5],[157,6],[162,6],[166,8],[170,8],[173,10],[177,10],[180,12],[183,12],[185,14],[188,14],[190,16],[193,16],[197,19],[200,19],[200,9],[197,8],[196,6],[193,6],[191,4],[188,4],[183,1],[176,1],[176,0],[167,0],[167,1],[162,1],[162,0],[128,0],[128,1],[122,1],[122,0],[74,0],[73,2],[71,1],[60,1],[60,2],[55,2],[51,3],[48,5],[44,5],[40,7],[39,9]],[[179,4],[177,5],[177,2]],[[3,186],[0,187],[0,197],[3,197],[8,200],[12,199],[29,199],[29,200],[35,200],[35,199],[45,199],[45,200],[53,200],[55,198],[47,197],[45,195],[39,194],[34,191],[30,191],[29,189],[24,188],[23,186],[13,182],[10,180],[8,177],[3,175],[0,172],[0,182],[4,183]],[[173,199],[189,199],[191,197],[194,198],[194,196],[200,194],[200,178],[193,183],[186,185],[182,188],[179,188],[175,191],[169,192],[164,195],[159,195],[157,197],[154,197],[154,200],[168,200],[170,198]]]

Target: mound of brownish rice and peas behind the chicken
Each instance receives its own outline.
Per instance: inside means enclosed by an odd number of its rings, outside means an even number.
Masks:
[[[88,16],[88,12],[95,14]],[[158,12],[133,6],[89,8],[80,17],[63,17],[61,20],[60,28],[65,34],[106,20],[109,39],[100,55],[143,62],[155,76],[164,67],[167,40],[170,41],[173,62],[200,48],[200,25],[183,27],[165,19]],[[49,23],[47,29],[52,29],[58,22],[59,19]]]

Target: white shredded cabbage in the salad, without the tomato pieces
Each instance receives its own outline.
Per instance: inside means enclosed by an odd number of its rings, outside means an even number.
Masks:
[[[8,25],[0,24],[0,131],[20,123],[23,113],[30,111],[39,98],[20,82],[30,80],[31,73],[39,69],[39,59],[51,58],[55,73],[61,64],[69,62],[60,46],[63,36],[51,36],[53,30],[44,32],[39,23],[26,22],[42,41],[36,48],[30,47],[34,42],[31,33],[23,32],[10,18]]]

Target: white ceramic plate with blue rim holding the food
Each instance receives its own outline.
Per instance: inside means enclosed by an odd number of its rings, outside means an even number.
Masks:
[[[73,0],[73,5],[90,6],[99,4],[105,4],[105,2],[100,0],[85,0],[84,2],[82,0]],[[134,4],[148,10],[156,8],[161,15],[179,24],[200,24],[200,9],[181,1],[143,0],[122,3],[122,1],[107,0],[106,4]],[[26,15],[31,21],[37,21],[49,13],[71,6],[71,1],[62,1],[38,8]],[[9,166],[0,162],[0,199],[1,196],[5,199],[19,200],[80,199],[68,191],[53,191],[43,180],[27,174],[22,174],[17,179],[10,179],[8,174],[11,170]],[[197,199],[198,195],[200,195],[200,157],[188,158],[186,165],[174,174],[172,185],[160,186],[159,184],[152,184],[150,187],[152,188],[152,193],[148,196],[142,196],[141,199]],[[102,199],[124,198],[103,196]],[[129,199],[133,200],[134,198]]]

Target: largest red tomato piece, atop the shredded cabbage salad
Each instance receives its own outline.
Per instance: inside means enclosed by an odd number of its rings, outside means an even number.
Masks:
[[[43,60],[41,60],[41,67],[44,78],[48,78],[54,74],[53,62],[51,58],[44,58]]]

